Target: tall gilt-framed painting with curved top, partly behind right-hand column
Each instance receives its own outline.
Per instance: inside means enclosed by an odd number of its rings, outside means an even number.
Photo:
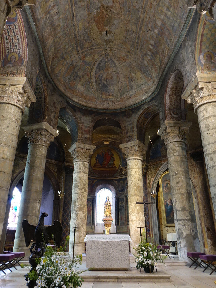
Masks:
[[[175,226],[169,171],[166,171],[160,177],[160,191],[164,223],[166,226]]]

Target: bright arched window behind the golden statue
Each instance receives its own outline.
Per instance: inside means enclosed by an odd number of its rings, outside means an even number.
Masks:
[[[104,202],[106,201],[107,196],[109,196],[109,201],[111,202],[111,212],[113,217],[113,194],[109,189],[102,188],[97,193],[96,223],[103,223],[102,219],[104,218]]]

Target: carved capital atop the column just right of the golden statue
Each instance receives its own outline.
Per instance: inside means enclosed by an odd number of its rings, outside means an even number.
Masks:
[[[126,155],[126,161],[129,159],[140,159],[141,161],[146,158],[146,147],[139,140],[131,141],[119,145],[122,153]]]

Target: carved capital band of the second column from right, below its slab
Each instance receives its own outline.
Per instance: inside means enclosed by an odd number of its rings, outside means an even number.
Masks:
[[[167,145],[171,142],[181,141],[186,144],[185,134],[189,132],[188,127],[167,127],[161,134],[161,139],[164,140],[164,144]]]

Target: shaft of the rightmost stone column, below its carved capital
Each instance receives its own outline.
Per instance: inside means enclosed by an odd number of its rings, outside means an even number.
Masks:
[[[197,116],[216,219],[216,102],[198,107]]]

